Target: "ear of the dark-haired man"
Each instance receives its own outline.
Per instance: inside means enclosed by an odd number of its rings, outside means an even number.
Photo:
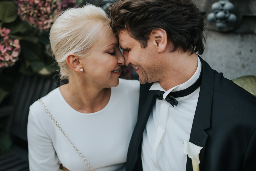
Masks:
[[[162,28],[155,28],[151,31],[150,38],[159,53],[163,52],[167,46],[167,33]]]

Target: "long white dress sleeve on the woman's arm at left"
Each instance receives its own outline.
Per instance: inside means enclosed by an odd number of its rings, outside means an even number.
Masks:
[[[59,159],[52,141],[31,108],[28,115],[27,133],[29,170],[57,171]]]

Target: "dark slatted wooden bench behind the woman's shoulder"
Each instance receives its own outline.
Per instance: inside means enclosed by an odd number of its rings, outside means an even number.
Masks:
[[[0,119],[8,117],[6,133],[10,135],[12,141],[8,154],[0,155],[1,171],[29,170],[27,147],[29,106],[59,86],[59,79],[20,76],[11,93],[9,106],[0,108]]]

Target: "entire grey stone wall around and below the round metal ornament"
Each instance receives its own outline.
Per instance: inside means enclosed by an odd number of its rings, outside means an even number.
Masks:
[[[212,0],[194,0],[203,15],[211,11]],[[233,0],[238,21],[232,30],[223,31],[206,19],[205,51],[201,57],[209,65],[234,79],[245,75],[256,76],[256,1]]]

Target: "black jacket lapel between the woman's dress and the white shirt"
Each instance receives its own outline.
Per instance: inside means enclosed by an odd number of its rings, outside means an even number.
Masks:
[[[146,127],[148,117],[156,101],[156,97],[152,92],[149,92],[146,97],[147,98],[144,98],[145,101],[143,102],[144,104],[143,107],[139,109],[138,120],[134,127],[134,131],[129,144],[127,161],[126,161],[126,170],[133,170],[134,166],[138,167],[138,165],[142,167],[141,164],[138,164],[138,163],[141,163],[140,154],[141,154],[142,135]]]

